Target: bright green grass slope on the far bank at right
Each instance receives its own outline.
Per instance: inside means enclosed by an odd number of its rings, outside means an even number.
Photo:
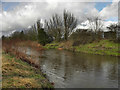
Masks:
[[[109,40],[101,40],[100,42],[77,46],[76,51],[91,54],[120,56],[120,53],[118,53],[118,45],[119,44]]]

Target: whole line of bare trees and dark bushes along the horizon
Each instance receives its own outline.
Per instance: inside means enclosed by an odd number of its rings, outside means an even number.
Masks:
[[[71,12],[64,10],[62,16],[56,13],[49,20],[45,20],[44,27],[41,20],[37,20],[31,28],[14,32],[10,37],[2,36],[2,39],[32,40],[38,41],[42,45],[52,41],[74,40],[74,45],[77,45],[91,43],[102,38],[114,40],[118,38],[118,29],[120,28],[118,24],[107,27],[110,31],[105,33],[102,29],[102,19],[99,16],[86,17],[86,19],[89,22],[89,29],[76,30],[78,19]]]

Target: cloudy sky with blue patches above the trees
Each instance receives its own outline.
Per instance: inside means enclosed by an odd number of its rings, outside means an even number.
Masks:
[[[28,0],[27,0],[28,1]],[[66,9],[78,18],[80,28],[87,24],[86,16],[103,18],[104,25],[118,22],[119,0],[2,0],[0,3],[0,32],[7,35],[15,30],[23,30],[33,25],[37,19],[49,19],[54,13],[62,15]]]

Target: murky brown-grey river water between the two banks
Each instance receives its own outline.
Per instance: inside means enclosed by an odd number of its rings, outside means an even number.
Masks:
[[[20,49],[40,66],[57,88],[117,88],[118,58],[65,50],[46,50],[41,54],[31,48]]]

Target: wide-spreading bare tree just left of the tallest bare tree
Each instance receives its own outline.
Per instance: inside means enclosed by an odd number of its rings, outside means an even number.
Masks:
[[[45,27],[48,34],[53,36],[56,41],[61,40],[63,24],[62,18],[58,14],[54,14],[49,21],[45,21]]]

